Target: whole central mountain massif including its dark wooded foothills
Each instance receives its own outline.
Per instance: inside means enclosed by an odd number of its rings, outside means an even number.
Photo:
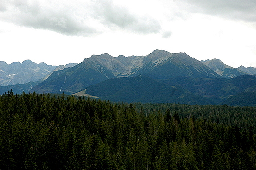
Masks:
[[[256,68],[232,68],[219,59],[198,61],[186,53],[164,50],[146,56],[92,55],[73,67],[53,70],[24,88],[111,101],[230,105],[247,105],[246,96],[256,91]],[[244,102],[238,102],[239,96]]]

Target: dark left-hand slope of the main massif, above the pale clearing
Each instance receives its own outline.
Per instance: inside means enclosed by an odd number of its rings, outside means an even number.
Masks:
[[[36,93],[72,94],[89,85],[97,84],[108,78],[115,77],[109,70],[99,64],[85,59],[80,64],[54,71],[45,81],[32,88]]]

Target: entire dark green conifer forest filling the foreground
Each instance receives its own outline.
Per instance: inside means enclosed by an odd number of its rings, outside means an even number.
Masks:
[[[1,170],[256,170],[256,107],[0,95]]]

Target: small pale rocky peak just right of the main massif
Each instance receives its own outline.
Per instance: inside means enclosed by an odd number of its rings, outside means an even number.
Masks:
[[[219,59],[212,59],[212,60],[205,60],[201,61],[204,63],[207,67],[211,68],[213,71],[215,71],[217,74],[224,78],[234,78],[237,76],[245,75],[248,74],[246,72],[243,72],[239,69],[230,67],[226,64],[224,64],[221,60]]]

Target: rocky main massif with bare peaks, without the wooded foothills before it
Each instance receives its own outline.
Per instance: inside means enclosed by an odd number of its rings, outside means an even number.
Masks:
[[[220,77],[200,61],[185,53],[154,50],[147,56],[92,55],[72,68],[54,72],[32,91],[72,94],[109,78],[140,74],[154,79],[169,79],[175,76]]]

